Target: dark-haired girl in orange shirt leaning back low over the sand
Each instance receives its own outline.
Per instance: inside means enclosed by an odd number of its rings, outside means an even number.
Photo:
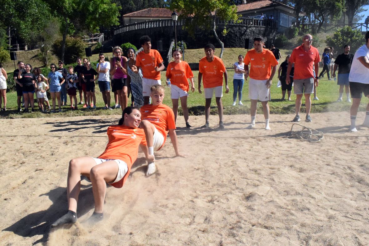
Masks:
[[[138,128],[140,123],[140,111],[136,107],[126,107],[118,125],[108,127],[109,142],[103,154],[98,158],[86,156],[70,160],[67,179],[68,212],[55,221],[52,227],[77,221],[81,174],[89,177],[92,182],[95,210],[89,221],[103,219],[106,183],[121,188],[137,159],[138,146],[146,146],[145,132]],[[148,153],[147,147],[142,149],[145,154]],[[148,156],[148,160],[153,161],[154,156]]]

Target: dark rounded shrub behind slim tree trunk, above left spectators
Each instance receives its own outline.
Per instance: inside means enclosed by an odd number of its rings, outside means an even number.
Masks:
[[[62,56],[62,40],[56,40],[52,45],[52,52],[61,59]],[[64,63],[69,64],[82,57],[85,54],[85,43],[80,38],[72,38],[67,36],[65,40]]]

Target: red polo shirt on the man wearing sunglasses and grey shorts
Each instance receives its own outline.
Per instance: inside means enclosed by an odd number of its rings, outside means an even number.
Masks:
[[[310,45],[308,51],[304,50],[304,45],[294,48],[290,57],[291,63],[295,64],[293,79],[313,78],[313,66],[320,61],[318,49]],[[315,71],[315,76],[317,71]]]

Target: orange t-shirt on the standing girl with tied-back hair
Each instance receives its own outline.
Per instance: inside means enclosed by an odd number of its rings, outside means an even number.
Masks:
[[[172,85],[178,86],[184,91],[189,90],[188,79],[193,78],[193,73],[187,62],[181,61],[180,63],[170,62],[166,68],[167,78],[170,78]]]

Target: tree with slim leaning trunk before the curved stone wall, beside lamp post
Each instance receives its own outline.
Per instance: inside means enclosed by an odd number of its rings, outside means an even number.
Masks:
[[[216,20],[237,21],[237,7],[230,4],[229,0],[172,0],[170,9],[180,13],[180,18],[185,18],[185,28],[189,34],[194,35],[196,28],[209,29],[211,28],[214,37],[221,46],[219,57],[222,58],[224,52],[224,43],[218,37],[215,30]],[[225,33],[225,29],[223,33]]]

